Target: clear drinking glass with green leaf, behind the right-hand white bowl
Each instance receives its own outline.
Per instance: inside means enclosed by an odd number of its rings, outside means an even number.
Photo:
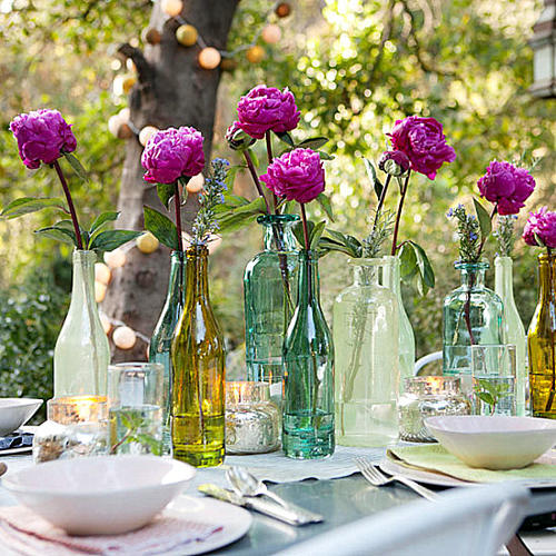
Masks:
[[[471,346],[475,415],[516,415],[516,346]]]

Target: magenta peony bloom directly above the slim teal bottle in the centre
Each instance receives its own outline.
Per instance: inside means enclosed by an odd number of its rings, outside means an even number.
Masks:
[[[288,201],[309,202],[325,190],[325,169],[318,152],[311,149],[294,149],[275,158],[260,179]]]

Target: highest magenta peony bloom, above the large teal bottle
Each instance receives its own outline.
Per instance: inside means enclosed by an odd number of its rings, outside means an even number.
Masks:
[[[255,139],[262,139],[268,130],[281,133],[295,129],[299,122],[296,99],[288,88],[259,85],[238,102],[238,122]]]

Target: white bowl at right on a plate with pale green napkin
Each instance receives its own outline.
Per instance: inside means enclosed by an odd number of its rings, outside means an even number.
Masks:
[[[435,438],[470,467],[519,469],[556,443],[556,420],[453,415],[425,419]]]

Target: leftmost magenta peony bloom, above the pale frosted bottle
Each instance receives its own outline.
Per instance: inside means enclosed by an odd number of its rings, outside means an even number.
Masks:
[[[39,168],[41,162],[51,165],[77,147],[71,126],[58,110],[20,113],[13,118],[10,129],[18,141],[21,160],[31,169]]]

